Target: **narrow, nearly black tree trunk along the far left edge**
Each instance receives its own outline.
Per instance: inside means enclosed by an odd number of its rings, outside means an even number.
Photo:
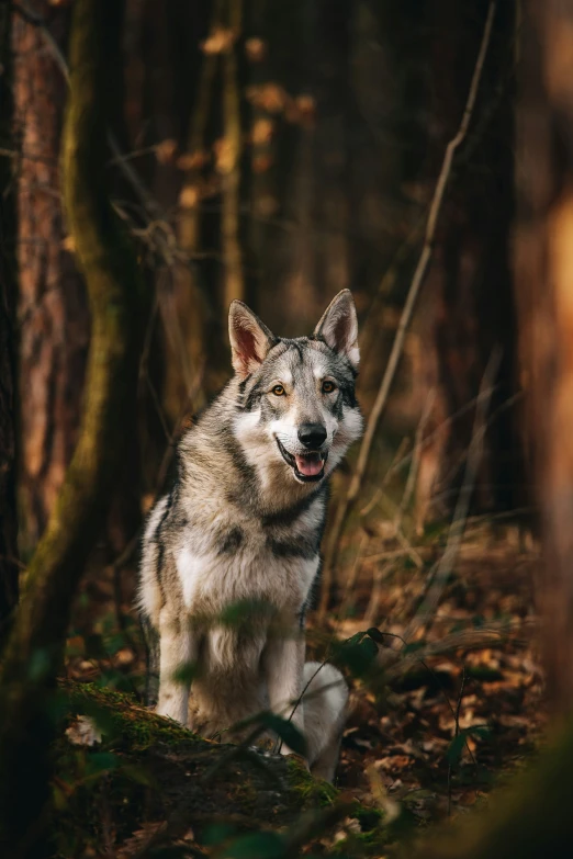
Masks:
[[[12,52],[10,10],[0,8],[0,140],[12,149]],[[0,646],[7,632],[7,620],[18,602],[18,519],[15,505],[14,434],[14,298],[15,239],[14,201],[11,192],[13,162],[0,158]]]

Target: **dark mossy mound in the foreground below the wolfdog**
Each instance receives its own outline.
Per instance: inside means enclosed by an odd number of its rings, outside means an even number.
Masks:
[[[229,822],[239,836],[296,829],[313,814],[336,813],[339,792],[314,779],[295,756],[263,757],[203,739],[131,694],[92,683],[65,682],[60,696],[68,719],[89,716],[102,732],[102,743],[92,747],[72,746],[65,736],[58,741],[53,829],[60,856],[79,856],[88,847],[101,852],[105,827],[114,833],[115,849],[134,832],[166,821],[175,823],[157,847],[173,846],[181,809],[182,832],[192,826],[199,843],[203,833],[209,837],[214,826]],[[349,833],[342,852],[379,855],[387,843],[381,812],[356,803],[349,816],[361,832]]]

